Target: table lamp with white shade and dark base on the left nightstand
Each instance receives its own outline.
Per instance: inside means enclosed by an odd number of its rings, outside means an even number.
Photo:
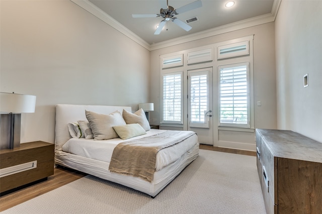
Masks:
[[[20,146],[21,113],[34,113],[36,96],[0,92],[0,149]]]

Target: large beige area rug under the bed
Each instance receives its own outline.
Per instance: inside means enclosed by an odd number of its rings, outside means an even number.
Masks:
[[[153,199],[88,175],[2,213],[266,213],[256,157],[200,150]]]

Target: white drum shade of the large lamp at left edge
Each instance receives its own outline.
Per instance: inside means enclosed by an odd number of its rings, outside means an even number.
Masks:
[[[1,113],[34,113],[36,96],[0,92]]]

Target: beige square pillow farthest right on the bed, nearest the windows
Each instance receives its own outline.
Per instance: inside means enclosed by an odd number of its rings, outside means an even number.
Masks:
[[[139,109],[134,114],[123,109],[123,118],[126,124],[140,124],[145,131],[150,130],[150,124],[146,119],[143,109]]]

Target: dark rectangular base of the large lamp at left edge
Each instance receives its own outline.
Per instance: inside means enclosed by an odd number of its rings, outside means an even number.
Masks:
[[[21,114],[0,115],[0,149],[20,147]]]

